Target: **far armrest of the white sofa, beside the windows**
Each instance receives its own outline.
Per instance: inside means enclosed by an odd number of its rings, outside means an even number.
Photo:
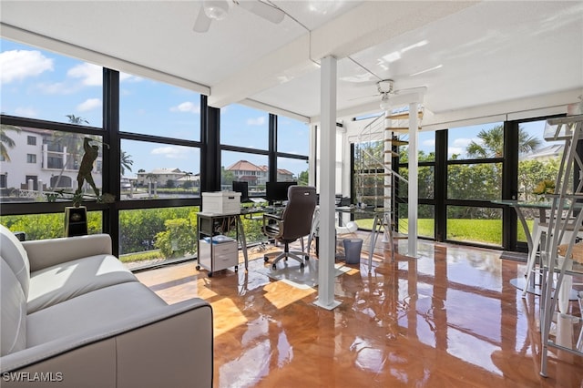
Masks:
[[[31,272],[88,256],[110,255],[112,252],[111,237],[105,233],[23,241],[22,245],[28,255]]]

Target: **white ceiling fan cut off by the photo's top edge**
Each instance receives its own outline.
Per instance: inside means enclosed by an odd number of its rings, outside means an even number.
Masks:
[[[212,20],[223,20],[229,14],[230,6],[235,5],[275,24],[285,16],[280,8],[261,0],[204,0],[200,2],[199,15],[192,29],[198,33],[209,31]]]

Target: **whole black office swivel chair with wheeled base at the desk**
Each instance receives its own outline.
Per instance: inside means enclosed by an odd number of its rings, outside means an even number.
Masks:
[[[263,234],[284,244],[281,254],[273,260],[273,269],[279,260],[288,258],[300,261],[300,268],[303,268],[303,257],[306,260],[310,258],[310,254],[303,251],[303,237],[312,231],[312,215],[315,208],[316,188],[291,186],[288,189],[288,203],[281,216],[263,214]],[[302,240],[302,251],[291,251],[290,243],[298,239]],[[267,260],[269,259],[266,255],[265,261]]]

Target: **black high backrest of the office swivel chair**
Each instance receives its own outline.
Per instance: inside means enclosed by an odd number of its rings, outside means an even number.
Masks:
[[[296,240],[310,234],[316,202],[316,188],[290,186],[288,203],[281,213],[281,220],[283,220],[281,240]]]

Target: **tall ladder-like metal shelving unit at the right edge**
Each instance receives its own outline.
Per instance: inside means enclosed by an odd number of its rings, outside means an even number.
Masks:
[[[550,217],[545,250],[541,251],[543,284],[540,300],[541,368],[547,376],[548,352],[551,349],[583,356],[583,320],[581,311],[573,315],[568,309],[573,275],[583,275],[583,262],[579,263],[576,243],[583,224],[583,161],[577,146],[583,138],[583,115],[547,120],[544,138],[565,140],[565,149],[557,174],[555,194],[551,200]],[[577,168],[577,169],[576,169]],[[576,171],[578,171],[577,177]],[[581,260],[583,261],[583,260]],[[578,292],[579,306],[583,292]]]

